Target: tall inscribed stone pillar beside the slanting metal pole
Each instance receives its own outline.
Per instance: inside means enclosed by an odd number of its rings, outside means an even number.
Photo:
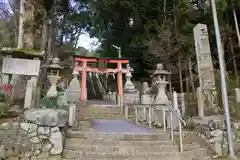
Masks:
[[[198,103],[199,110],[204,112],[217,112],[216,88],[211,51],[209,46],[207,25],[197,24],[194,29],[194,41],[197,56],[199,74],[199,97],[202,102]],[[203,115],[201,115],[203,116]]]

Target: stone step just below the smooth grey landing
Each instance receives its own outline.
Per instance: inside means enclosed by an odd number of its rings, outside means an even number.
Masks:
[[[118,134],[118,133],[99,133],[99,132],[82,132],[82,131],[67,131],[67,137],[69,138],[81,138],[81,139],[110,139],[110,140],[153,140],[153,141],[167,141],[169,136],[166,133],[156,134]]]

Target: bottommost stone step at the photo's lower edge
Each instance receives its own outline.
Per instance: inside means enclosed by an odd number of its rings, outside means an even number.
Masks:
[[[143,158],[145,157],[148,159],[151,159],[150,157],[157,158],[158,159],[164,159],[166,160],[167,158],[169,160],[177,160],[178,159],[178,152],[168,152],[168,153],[162,153],[162,152],[151,152],[151,153],[145,153],[145,152],[140,152],[137,154],[132,154],[132,153],[105,153],[105,152],[84,152],[84,151],[73,151],[73,150],[67,150],[65,149],[63,151],[63,157],[68,158],[68,159],[128,159],[128,158]]]

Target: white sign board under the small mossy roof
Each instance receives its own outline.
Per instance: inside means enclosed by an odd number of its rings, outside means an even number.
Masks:
[[[2,73],[38,76],[40,63],[40,60],[4,57]]]

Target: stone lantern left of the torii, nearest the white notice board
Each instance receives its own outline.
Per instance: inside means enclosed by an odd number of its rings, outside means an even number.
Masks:
[[[52,59],[52,63],[47,66],[48,75],[47,78],[50,82],[50,88],[47,92],[47,97],[55,97],[57,96],[57,82],[61,79],[59,76],[59,71],[63,67],[60,65],[60,59],[58,57],[54,57]]]

